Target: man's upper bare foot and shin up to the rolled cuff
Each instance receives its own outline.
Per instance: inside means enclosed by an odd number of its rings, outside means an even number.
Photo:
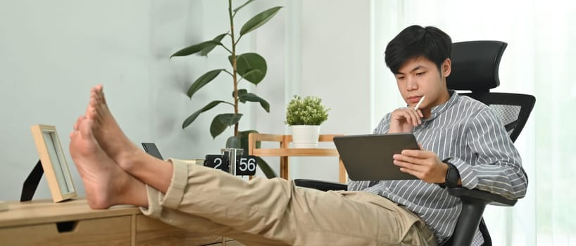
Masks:
[[[90,91],[86,117],[94,122],[94,137],[114,162],[137,179],[166,193],[172,180],[172,164],[144,153],[124,135],[108,109],[101,85]]]

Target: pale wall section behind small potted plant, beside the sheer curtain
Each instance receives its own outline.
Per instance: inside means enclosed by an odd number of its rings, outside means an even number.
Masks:
[[[303,96],[320,96],[330,117],[322,133],[368,134],[370,128],[370,2],[303,1]],[[337,158],[301,157],[291,177],[337,181]]]

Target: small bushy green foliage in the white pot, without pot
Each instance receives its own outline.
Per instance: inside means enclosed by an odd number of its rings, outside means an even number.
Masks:
[[[319,126],[328,119],[328,110],[322,105],[322,99],[315,96],[300,98],[294,96],[286,108],[285,124]]]

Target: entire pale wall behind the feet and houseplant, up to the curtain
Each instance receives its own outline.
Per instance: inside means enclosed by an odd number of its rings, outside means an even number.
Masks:
[[[237,26],[271,6],[285,8],[239,47],[268,60],[267,77],[249,89],[268,100],[270,114],[258,105],[244,105],[240,128],[288,133],[285,105],[300,94],[320,96],[332,108],[322,133],[369,133],[375,124],[369,120],[370,2],[256,1],[238,15]],[[153,141],[165,157],[219,153],[232,131],[211,138],[208,127],[215,111],[185,130],[181,124],[209,101],[229,100],[232,86],[224,75],[192,101],[184,95],[196,77],[227,65],[225,52],[168,57],[225,32],[226,15],[226,1],[213,0],[1,1],[0,200],[18,200],[37,162],[32,124],[56,126],[77,190],[84,195],[68,153],[68,134],[84,112],[89,88],[99,83],[132,141]],[[294,159],[292,177],[337,180],[336,160]],[[43,179],[35,199],[49,197]]]

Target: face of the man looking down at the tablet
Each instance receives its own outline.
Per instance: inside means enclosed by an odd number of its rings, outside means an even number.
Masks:
[[[450,64],[450,59],[444,60],[441,71],[438,71],[438,67],[431,60],[424,57],[413,58],[402,65],[399,73],[395,75],[398,89],[409,107],[414,108],[420,98],[426,96],[418,107],[424,118],[430,117],[432,107],[446,103],[450,98],[446,89]]]

